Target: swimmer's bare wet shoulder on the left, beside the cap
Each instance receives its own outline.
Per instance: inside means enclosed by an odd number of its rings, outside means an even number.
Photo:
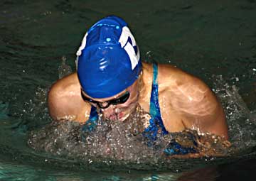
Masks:
[[[77,73],[58,79],[48,92],[48,109],[54,120],[84,122],[90,116],[90,105],[81,97]]]

